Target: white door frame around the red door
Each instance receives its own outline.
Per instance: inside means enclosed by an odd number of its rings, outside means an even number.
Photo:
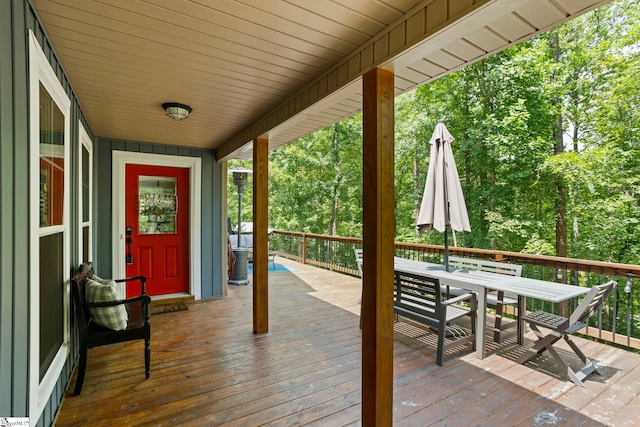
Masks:
[[[169,156],[164,154],[112,152],[112,265],[115,277],[126,277],[125,263],[125,168],[128,164],[189,168],[189,293],[201,298],[201,237],[202,218],[202,159],[199,157]],[[124,286],[120,289],[124,297]]]

